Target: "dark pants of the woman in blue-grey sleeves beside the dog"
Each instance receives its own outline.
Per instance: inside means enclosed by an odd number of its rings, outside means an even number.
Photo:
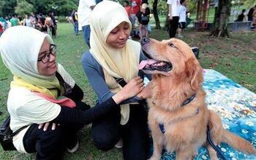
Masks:
[[[124,160],[144,160],[148,155],[147,111],[143,105],[130,105],[129,121],[120,124],[120,108],[101,119],[94,121],[91,127],[94,145],[100,150],[108,151],[123,139]]]

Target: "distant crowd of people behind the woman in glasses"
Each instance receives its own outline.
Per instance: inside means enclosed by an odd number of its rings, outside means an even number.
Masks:
[[[49,15],[42,15],[41,13],[35,14],[31,12],[30,15],[20,17],[17,15],[0,16],[0,36],[7,28],[11,28],[16,25],[24,25],[31,28],[36,28],[43,33],[51,33],[53,38],[57,36],[57,21],[54,17],[54,12],[50,11]]]

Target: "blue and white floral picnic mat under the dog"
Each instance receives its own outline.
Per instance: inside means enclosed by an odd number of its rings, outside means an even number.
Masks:
[[[256,147],[256,94],[214,70],[204,70],[203,78],[208,108],[222,117],[225,129],[244,137]],[[225,143],[218,146],[225,159],[256,159],[256,156],[236,151]],[[162,154],[162,160],[170,159],[175,159],[175,153]],[[200,148],[195,159],[209,159],[205,147]]]

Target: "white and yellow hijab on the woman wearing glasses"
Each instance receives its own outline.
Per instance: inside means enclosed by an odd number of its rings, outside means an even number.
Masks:
[[[45,39],[53,44],[48,34],[34,28],[20,25],[8,28],[0,39],[1,58],[14,76],[11,87],[26,87],[57,97],[60,85],[56,76],[42,76],[37,70],[39,50]]]

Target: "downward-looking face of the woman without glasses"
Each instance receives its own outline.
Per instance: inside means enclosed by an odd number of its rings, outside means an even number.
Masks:
[[[106,43],[112,48],[121,49],[127,43],[128,38],[129,23],[122,22],[110,31]]]

